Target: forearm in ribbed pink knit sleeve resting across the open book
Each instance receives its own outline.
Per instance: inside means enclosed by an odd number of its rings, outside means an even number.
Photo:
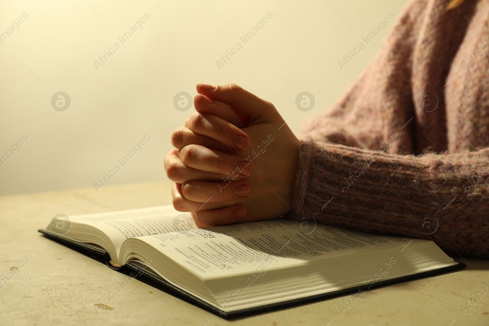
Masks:
[[[489,258],[489,149],[421,156],[388,149],[302,140],[287,217],[430,239],[450,254]]]

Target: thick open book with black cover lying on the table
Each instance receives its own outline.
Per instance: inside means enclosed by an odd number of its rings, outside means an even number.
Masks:
[[[306,224],[305,224],[306,223]],[[224,317],[466,267],[433,241],[274,219],[195,229],[163,206],[55,216],[45,236],[106,253]],[[363,292],[362,292],[363,291]]]

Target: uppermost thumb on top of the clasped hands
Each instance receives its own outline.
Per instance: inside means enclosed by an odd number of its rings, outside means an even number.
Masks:
[[[210,99],[228,104],[250,122],[257,120],[271,122],[271,120],[277,119],[277,116],[279,120],[281,119],[273,104],[236,84],[218,86],[197,84],[197,91]]]

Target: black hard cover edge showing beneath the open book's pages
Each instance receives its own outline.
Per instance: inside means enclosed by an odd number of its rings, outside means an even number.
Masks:
[[[111,264],[111,258],[109,256],[109,253],[103,249],[100,249],[99,247],[93,246],[89,243],[83,243],[74,239],[69,239],[67,237],[63,237],[62,235],[59,235],[55,232],[49,231],[49,230],[39,230],[45,237],[49,239],[53,239],[57,242],[60,242],[62,244],[68,245],[68,246],[75,246],[78,248],[86,249],[92,256],[95,258],[97,261],[100,261],[96,256],[102,259],[102,263],[105,263],[107,266],[109,266],[111,269],[120,271],[122,273],[127,273],[128,270],[134,271],[137,275],[139,276],[145,276],[148,280],[152,282],[156,282],[159,285],[162,285],[168,292],[173,295],[176,295],[178,298],[183,299],[189,303],[195,304],[198,307],[207,310],[209,312],[212,312],[213,314],[216,314],[222,318],[225,319],[232,319],[232,318],[237,318],[237,317],[244,317],[244,316],[249,316],[249,315],[254,315],[254,314],[259,314],[263,312],[268,312],[271,310],[277,310],[277,309],[283,309],[299,304],[307,304],[315,301],[320,301],[324,299],[330,299],[334,297],[340,297],[348,294],[352,294],[355,292],[358,292],[360,288],[363,288],[364,290],[367,289],[372,289],[372,288],[377,288],[381,286],[386,286],[390,284],[395,284],[395,283],[401,283],[405,281],[411,281],[411,280],[416,280],[416,279],[421,279],[423,277],[427,276],[433,276],[437,274],[443,274],[446,272],[451,272],[459,269],[464,269],[467,267],[466,264],[458,262],[456,265],[452,266],[447,266],[447,267],[442,267],[430,271],[425,271],[421,273],[416,273],[412,275],[406,275],[406,276],[401,276],[395,279],[391,280],[383,280],[383,281],[377,281],[375,283],[365,283],[362,286],[354,286],[354,287],[349,287],[346,289],[341,289],[341,290],[336,290],[328,293],[323,293],[323,294],[318,294],[318,295],[313,295],[310,297],[304,297],[304,298],[298,298],[294,300],[289,300],[289,301],[283,301],[283,302],[278,302],[274,304],[267,304],[267,305],[261,305],[261,306],[256,306],[252,308],[247,308],[247,309],[241,309],[241,310],[235,310],[235,311],[222,311],[219,308],[208,304],[201,299],[195,297],[194,295],[186,292],[185,290],[169,283],[168,281],[162,279],[159,275],[156,275],[152,271],[149,271],[145,269],[144,265],[141,264],[136,264],[133,262],[129,262],[125,264],[124,266],[121,267],[115,267]],[[83,251],[82,251],[83,252]],[[148,282],[145,282],[148,283]],[[155,286],[156,284],[152,284],[149,282],[148,284]],[[168,291],[169,290],[169,291]]]

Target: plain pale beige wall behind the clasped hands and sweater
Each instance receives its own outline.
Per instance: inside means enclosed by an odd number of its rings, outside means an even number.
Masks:
[[[0,194],[92,187],[97,196],[93,183],[116,164],[108,185],[165,179],[170,135],[193,112],[177,110],[173,98],[195,95],[197,82],[241,85],[291,117],[297,132],[356,78],[393,23],[343,69],[338,60],[390,12],[398,18],[404,2],[282,1],[1,1],[0,155],[23,135],[28,141],[0,167]],[[121,43],[145,13],[151,18]],[[265,29],[244,44],[267,13]],[[238,42],[243,48],[219,69],[216,60]],[[97,69],[114,43],[120,48]],[[59,91],[71,99],[65,111],[51,106]],[[295,106],[302,91],[316,99],[311,111]],[[145,135],[151,140],[122,167],[117,159]]]

